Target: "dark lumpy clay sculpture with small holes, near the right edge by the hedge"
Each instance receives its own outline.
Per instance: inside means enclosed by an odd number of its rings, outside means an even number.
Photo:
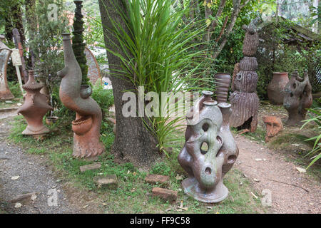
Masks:
[[[303,78],[299,76],[297,71],[292,73],[284,91],[283,106],[289,113],[286,124],[301,124],[307,115],[307,108],[312,105],[312,87],[307,71],[305,71]]]

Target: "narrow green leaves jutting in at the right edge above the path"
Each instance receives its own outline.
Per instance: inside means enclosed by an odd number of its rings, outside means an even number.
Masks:
[[[313,113],[315,116],[310,114],[310,119],[304,120],[305,124],[302,125],[302,128],[305,125],[307,125],[307,123],[314,122],[318,125],[318,129],[321,132],[321,108],[312,108],[312,109],[309,109],[309,111],[310,113]],[[311,140],[314,140],[315,143],[313,145],[313,149],[306,155],[306,156],[308,155],[312,156],[312,162],[310,163],[310,165],[307,166],[307,168],[313,165],[321,157],[321,133],[319,135],[315,135],[315,137],[307,139],[307,141],[311,141]],[[316,155],[317,153],[319,154]]]

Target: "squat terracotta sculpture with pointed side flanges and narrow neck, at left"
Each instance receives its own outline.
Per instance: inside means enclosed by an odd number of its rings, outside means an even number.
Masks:
[[[46,101],[46,95],[40,93],[43,86],[34,79],[34,71],[29,71],[29,80],[22,88],[26,90],[24,104],[18,114],[24,115],[28,125],[22,135],[42,135],[49,133],[42,119],[49,110],[54,110]]]

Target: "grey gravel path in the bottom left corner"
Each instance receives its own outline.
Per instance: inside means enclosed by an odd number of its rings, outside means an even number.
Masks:
[[[16,112],[16,111],[14,111]],[[14,112],[6,113],[7,116]],[[46,158],[30,155],[16,145],[6,142],[10,126],[8,119],[1,116],[0,120],[0,212],[8,213],[78,213],[74,206],[66,199],[62,190],[63,184],[54,178],[46,165]],[[12,180],[11,178],[16,179]],[[50,191],[49,191],[50,190]],[[18,195],[39,192],[36,199],[28,197],[19,200],[19,204],[10,200]],[[57,195],[55,201],[54,196]],[[57,205],[55,205],[57,204]]]

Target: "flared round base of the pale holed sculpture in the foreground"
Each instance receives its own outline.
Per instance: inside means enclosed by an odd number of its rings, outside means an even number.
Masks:
[[[228,188],[223,185],[223,181],[218,182],[214,190],[202,190],[195,177],[183,180],[182,186],[186,195],[197,199],[200,202],[214,203],[220,202],[228,197]]]

